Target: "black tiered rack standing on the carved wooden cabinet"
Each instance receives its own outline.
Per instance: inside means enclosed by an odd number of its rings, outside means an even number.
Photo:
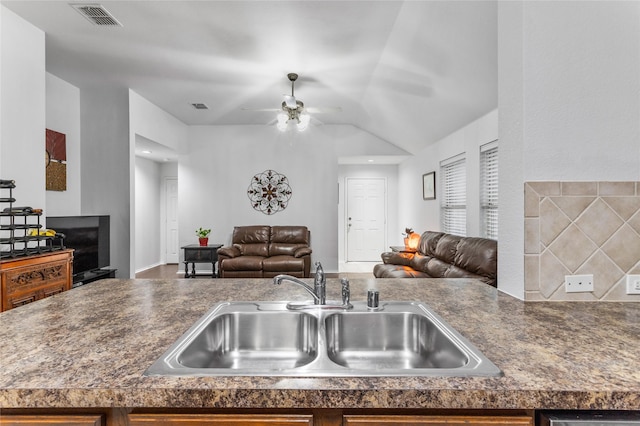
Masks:
[[[0,259],[64,249],[64,238],[61,236],[40,235],[42,210],[14,205],[15,187],[15,181],[0,179]],[[36,235],[31,235],[33,230],[38,231]]]

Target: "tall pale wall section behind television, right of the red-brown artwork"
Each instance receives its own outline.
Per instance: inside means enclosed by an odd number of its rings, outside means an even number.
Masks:
[[[111,267],[118,269],[117,277],[130,278],[134,165],[133,148],[129,145],[129,90],[82,89],[80,120],[82,214],[111,217]]]

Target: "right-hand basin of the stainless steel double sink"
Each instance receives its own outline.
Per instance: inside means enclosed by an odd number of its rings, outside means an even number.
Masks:
[[[350,312],[326,319],[329,359],[363,369],[462,368],[469,356],[424,316],[411,312]]]

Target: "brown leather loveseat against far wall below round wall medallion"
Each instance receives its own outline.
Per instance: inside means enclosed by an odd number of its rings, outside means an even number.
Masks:
[[[218,249],[218,276],[309,277],[310,236],[306,226],[236,226],[231,246]]]

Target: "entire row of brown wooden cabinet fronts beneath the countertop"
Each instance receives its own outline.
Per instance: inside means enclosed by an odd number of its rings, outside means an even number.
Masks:
[[[71,425],[71,426],[533,426],[533,410],[216,410],[136,408],[105,409],[102,413],[71,413],[68,409],[3,410],[0,426]]]

